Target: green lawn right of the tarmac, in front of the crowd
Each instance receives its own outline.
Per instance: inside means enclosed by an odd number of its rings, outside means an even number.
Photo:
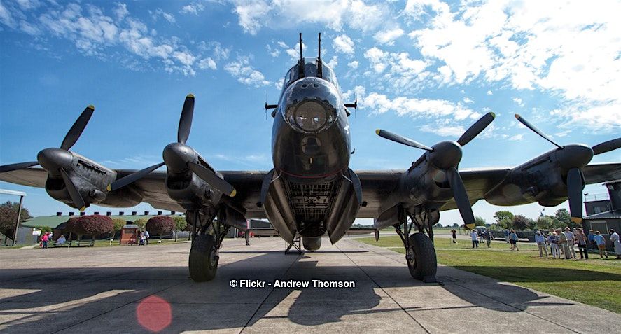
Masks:
[[[357,240],[405,253],[398,236]],[[490,249],[471,246],[467,240],[452,244],[449,238],[435,238],[438,263],[621,314],[621,260],[614,256],[600,260],[590,253],[589,260],[554,260],[539,258],[533,244],[518,244],[519,251],[510,251],[505,242],[492,242]]]

